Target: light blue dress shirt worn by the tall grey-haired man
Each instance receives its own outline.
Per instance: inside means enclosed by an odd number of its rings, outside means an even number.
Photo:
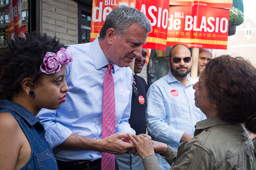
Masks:
[[[44,125],[45,136],[52,148],[63,143],[72,133],[91,139],[102,139],[103,80],[108,59],[98,38],[90,43],[70,45],[73,62],[66,67],[69,87],[66,102],[57,110],[42,109],[37,118]],[[116,133],[135,131],[128,124],[131,112],[132,71],[113,64],[115,86]],[[50,97],[50,96],[49,96]],[[106,146],[107,147],[107,146]],[[96,160],[101,152],[92,150],[53,149],[61,161]]]

